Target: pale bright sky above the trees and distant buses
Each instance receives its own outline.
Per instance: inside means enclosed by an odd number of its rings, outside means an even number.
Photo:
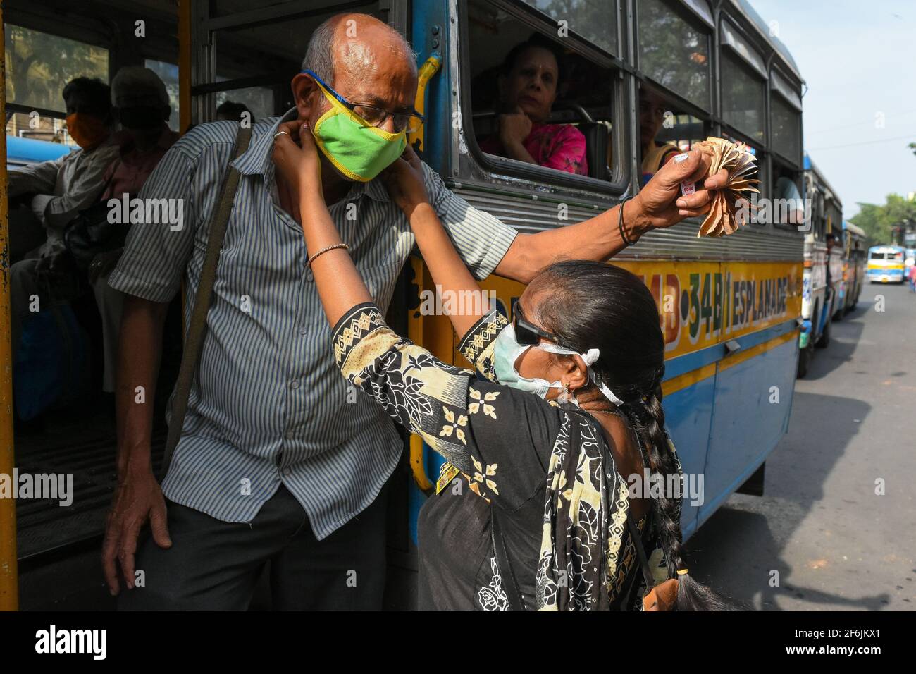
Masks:
[[[916,192],[916,4],[750,0],[789,48],[808,91],[804,146],[843,201]],[[883,127],[881,122],[883,119]]]

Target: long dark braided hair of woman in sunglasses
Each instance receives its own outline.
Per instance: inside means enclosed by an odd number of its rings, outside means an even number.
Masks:
[[[591,260],[564,260],[547,267],[530,284],[538,293],[532,318],[584,353],[601,349],[592,365],[599,381],[623,401],[619,412],[636,430],[649,459],[649,473],[670,483],[680,465],[665,432],[661,380],[665,341],[658,307],[649,288],[629,271]],[[543,292],[542,291],[546,291]],[[541,294],[542,293],[542,294]],[[652,514],[669,569],[683,569],[681,505],[662,490],[651,500]],[[678,575],[679,611],[732,608],[713,591]]]

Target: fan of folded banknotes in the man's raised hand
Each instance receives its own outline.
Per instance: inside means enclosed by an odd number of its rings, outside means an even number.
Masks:
[[[747,224],[747,213],[756,205],[750,204],[749,193],[759,190],[754,187],[758,184],[756,178],[751,178],[757,172],[757,163],[744,143],[732,143],[725,138],[706,138],[696,143],[693,147],[701,147],[703,151],[712,152],[713,163],[709,167],[709,174],[715,175],[725,169],[728,171],[728,182],[721,190],[713,193],[712,206],[697,237],[722,237],[734,234],[740,225]],[[745,200],[745,207],[739,208],[739,200]]]

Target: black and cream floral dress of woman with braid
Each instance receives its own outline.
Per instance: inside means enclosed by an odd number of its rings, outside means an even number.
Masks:
[[[420,512],[420,608],[508,609],[493,508],[526,608],[638,608],[644,580],[627,530],[627,482],[587,414],[496,382],[493,342],[506,325],[494,312],[463,337],[479,376],[399,337],[375,304],[354,306],[333,329],[344,377],[448,461]],[[667,580],[654,526],[644,517],[638,528],[655,582]]]

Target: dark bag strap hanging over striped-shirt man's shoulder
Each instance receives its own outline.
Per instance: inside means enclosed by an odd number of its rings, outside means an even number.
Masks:
[[[232,153],[232,159],[237,159],[245,149],[248,149],[248,143],[251,141],[251,127],[242,127],[239,125],[238,133],[235,136],[235,145]],[[169,437],[166,440],[165,457],[162,459],[162,475],[169,471],[169,463],[175,447],[181,436],[181,428],[184,425],[184,416],[188,412],[188,398],[191,396],[191,382],[194,380],[194,373],[197,370],[197,361],[201,356],[201,347],[203,338],[207,332],[207,312],[210,309],[210,302],[213,299],[213,282],[216,281],[216,266],[220,260],[220,252],[223,248],[223,239],[226,233],[226,227],[229,224],[229,216],[232,215],[232,206],[235,201],[235,193],[238,191],[240,173],[235,170],[230,163],[228,170],[223,177],[223,186],[220,190],[219,201],[213,207],[213,215],[210,218],[210,233],[207,238],[207,252],[203,259],[201,269],[201,282],[197,286],[197,293],[194,295],[194,307],[191,310],[191,324],[188,326],[188,332],[184,339],[184,353],[181,357],[181,367],[178,373],[178,381],[175,382],[175,399],[172,406],[171,423],[169,424]]]

